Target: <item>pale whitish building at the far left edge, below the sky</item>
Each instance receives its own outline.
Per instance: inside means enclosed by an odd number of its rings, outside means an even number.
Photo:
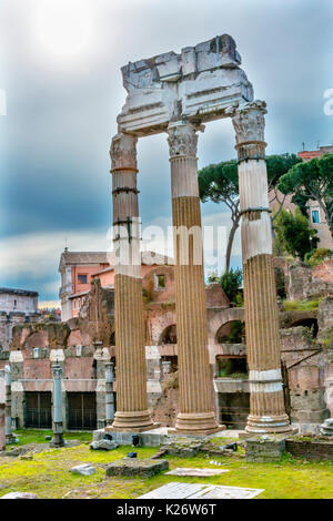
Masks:
[[[0,288],[0,353],[9,350],[13,326],[38,319],[37,292]]]

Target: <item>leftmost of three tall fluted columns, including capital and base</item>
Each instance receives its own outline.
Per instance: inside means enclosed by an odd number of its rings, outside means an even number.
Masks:
[[[117,134],[110,151],[117,357],[117,412],[112,429],[119,431],[141,431],[152,427],[147,397],[135,145],[135,136]]]

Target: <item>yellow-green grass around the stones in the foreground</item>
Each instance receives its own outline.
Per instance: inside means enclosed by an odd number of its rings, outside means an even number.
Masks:
[[[65,437],[91,439],[91,433],[70,433]],[[24,431],[21,437],[29,442],[44,441],[46,431]],[[32,440],[32,441],[31,441]],[[221,440],[219,440],[221,442]],[[229,440],[230,441],[230,440]],[[153,478],[105,478],[105,464],[121,459],[132,450],[121,447],[113,451],[91,451],[88,445],[69,449],[48,449],[33,456],[33,460],[0,458],[0,496],[11,491],[37,493],[39,498],[138,498],[170,481],[202,482],[264,489],[259,499],[333,499],[333,461],[307,462],[285,456],[283,461],[272,463],[249,463],[241,448],[233,457],[193,458],[168,456],[170,469],[175,467],[206,467],[229,469],[229,472],[213,478],[185,478],[159,474]],[[135,449],[139,458],[154,454],[157,448]],[[221,467],[211,466],[219,460]],[[90,477],[72,476],[69,469],[74,464],[91,462],[97,472]]]

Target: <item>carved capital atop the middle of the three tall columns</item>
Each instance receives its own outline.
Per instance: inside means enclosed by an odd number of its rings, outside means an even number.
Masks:
[[[170,157],[175,155],[196,157],[196,130],[191,123],[170,123],[168,127]],[[203,130],[203,127],[200,130]]]

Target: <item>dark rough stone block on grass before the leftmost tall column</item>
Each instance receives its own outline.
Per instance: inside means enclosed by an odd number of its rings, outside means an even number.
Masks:
[[[169,470],[167,460],[152,459],[123,459],[110,463],[107,468],[107,476],[143,476],[150,478],[163,470]]]

